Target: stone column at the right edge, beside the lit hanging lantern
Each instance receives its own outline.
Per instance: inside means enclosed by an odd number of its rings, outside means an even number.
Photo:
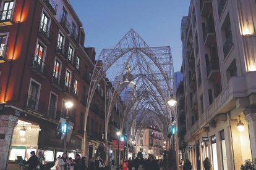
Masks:
[[[252,160],[256,159],[256,113],[249,113],[245,116],[249,125],[250,149],[252,151]]]

